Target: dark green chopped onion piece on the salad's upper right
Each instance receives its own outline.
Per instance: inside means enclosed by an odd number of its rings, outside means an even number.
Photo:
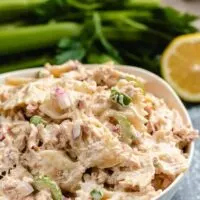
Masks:
[[[122,92],[119,92],[115,88],[111,88],[110,97],[115,103],[118,103],[121,106],[128,106],[131,103],[131,97]]]

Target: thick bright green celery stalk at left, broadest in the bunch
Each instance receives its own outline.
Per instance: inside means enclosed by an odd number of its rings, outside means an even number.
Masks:
[[[80,35],[76,23],[50,23],[0,31],[0,55],[8,55],[55,45],[63,37]]]

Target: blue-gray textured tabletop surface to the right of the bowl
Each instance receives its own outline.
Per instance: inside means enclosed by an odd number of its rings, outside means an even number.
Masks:
[[[200,130],[200,105],[188,108],[193,125]],[[195,145],[195,155],[189,173],[173,200],[200,200],[200,140]]]

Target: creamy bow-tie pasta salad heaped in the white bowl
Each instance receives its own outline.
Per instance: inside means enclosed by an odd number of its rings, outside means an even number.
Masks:
[[[0,85],[1,200],[150,200],[197,132],[111,64],[47,65]]]

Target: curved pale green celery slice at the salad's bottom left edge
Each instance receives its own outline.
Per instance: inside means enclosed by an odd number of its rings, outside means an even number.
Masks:
[[[56,182],[51,180],[48,176],[38,176],[34,178],[33,185],[36,190],[40,191],[48,189],[51,192],[53,200],[62,200],[62,192]]]

